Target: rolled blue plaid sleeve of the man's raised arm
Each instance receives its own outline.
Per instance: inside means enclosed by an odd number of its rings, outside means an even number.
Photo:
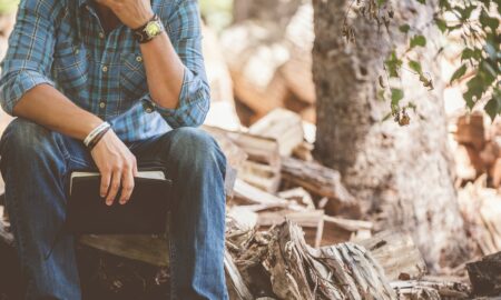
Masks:
[[[185,64],[179,103],[176,109],[161,108],[150,96],[144,100],[164,117],[171,128],[198,127],[207,116],[210,106],[210,88],[202,53],[202,24],[196,0],[179,0],[168,20],[164,20],[170,41]]]

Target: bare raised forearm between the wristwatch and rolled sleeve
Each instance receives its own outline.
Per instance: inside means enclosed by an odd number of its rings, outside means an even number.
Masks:
[[[140,46],[148,89],[153,100],[163,108],[178,106],[185,66],[176,53],[167,33]]]

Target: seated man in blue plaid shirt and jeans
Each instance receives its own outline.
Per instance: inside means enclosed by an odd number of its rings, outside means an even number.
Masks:
[[[171,299],[227,299],[226,160],[191,128],[209,106],[196,0],[21,0],[0,98],[19,117],[0,152],[27,299],[81,299],[73,239],[50,252],[68,174],[97,167],[104,202],[120,206],[151,161],[177,187]]]

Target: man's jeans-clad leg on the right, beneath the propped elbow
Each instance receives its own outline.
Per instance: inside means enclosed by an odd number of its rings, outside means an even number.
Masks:
[[[225,300],[226,158],[199,129],[180,128],[130,147],[138,166],[160,162],[173,179],[170,218],[173,300]]]

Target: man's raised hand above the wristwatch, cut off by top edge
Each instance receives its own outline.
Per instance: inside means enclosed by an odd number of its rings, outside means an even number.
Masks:
[[[131,29],[146,24],[154,16],[149,0],[96,0],[97,3],[108,7]]]

